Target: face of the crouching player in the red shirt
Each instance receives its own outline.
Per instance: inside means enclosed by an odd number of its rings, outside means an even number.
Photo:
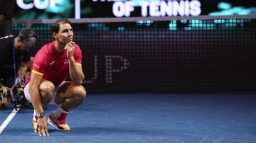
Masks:
[[[73,42],[73,28],[69,23],[60,23],[60,29],[57,34],[57,39],[63,45]]]

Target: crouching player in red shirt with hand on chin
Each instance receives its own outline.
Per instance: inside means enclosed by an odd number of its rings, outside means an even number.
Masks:
[[[82,52],[73,42],[73,28],[68,19],[52,25],[55,40],[41,47],[33,60],[31,75],[25,83],[24,93],[34,108],[33,126],[41,136],[49,135],[47,122],[57,130],[70,130],[65,118],[68,111],[77,107],[85,98],[82,72]],[[65,81],[70,79],[70,81]],[[43,112],[46,105],[58,107],[48,120]]]

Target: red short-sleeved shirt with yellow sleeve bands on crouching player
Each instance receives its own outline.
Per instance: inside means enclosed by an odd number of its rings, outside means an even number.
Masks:
[[[82,52],[76,44],[73,56],[76,64],[82,66]],[[67,50],[59,53],[54,46],[54,41],[49,42],[36,53],[31,67],[31,72],[43,76],[43,79],[51,81],[55,86],[58,86],[68,78],[69,61]],[[30,82],[30,79],[31,74],[29,74],[25,86]]]

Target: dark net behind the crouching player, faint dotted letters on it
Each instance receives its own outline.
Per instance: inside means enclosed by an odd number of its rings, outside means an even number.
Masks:
[[[186,28],[193,21],[176,21],[176,30],[169,29],[170,21],[74,23],[84,86],[92,93],[255,92],[255,19],[201,22],[191,30]],[[35,54],[53,38],[50,24],[31,28],[38,33]]]

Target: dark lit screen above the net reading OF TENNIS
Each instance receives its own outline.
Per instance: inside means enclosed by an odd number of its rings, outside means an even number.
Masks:
[[[256,13],[251,0],[16,0],[14,19],[199,16]]]

